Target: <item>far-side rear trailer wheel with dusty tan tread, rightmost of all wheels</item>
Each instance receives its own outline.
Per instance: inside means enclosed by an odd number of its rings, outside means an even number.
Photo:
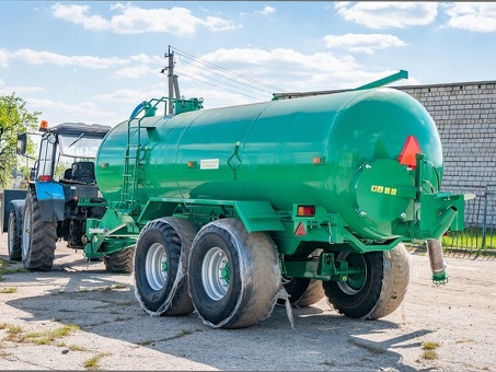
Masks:
[[[408,253],[403,244],[390,252],[341,252],[336,259],[361,271],[349,275],[346,281],[323,283],[330,305],[341,314],[377,319],[400,306],[410,281]]]

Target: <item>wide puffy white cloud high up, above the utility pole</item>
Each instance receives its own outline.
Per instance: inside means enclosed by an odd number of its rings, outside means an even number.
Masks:
[[[227,31],[238,27],[231,21],[218,16],[200,19],[186,8],[145,9],[130,3],[116,3],[111,10],[117,14],[109,20],[101,15],[89,15],[89,5],[65,5],[57,3],[51,7],[53,15],[73,24],[80,24],[85,30],[109,30],[117,34],[168,33],[178,36],[192,36],[198,27],[212,32]]]

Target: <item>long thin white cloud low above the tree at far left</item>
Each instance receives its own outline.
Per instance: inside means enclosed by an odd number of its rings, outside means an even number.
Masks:
[[[50,63],[56,66],[78,66],[89,69],[105,69],[128,62],[127,60],[117,57],[64,56],[51,51],[36,51],[25,48],[9,53],[9,57],[28,65]]]

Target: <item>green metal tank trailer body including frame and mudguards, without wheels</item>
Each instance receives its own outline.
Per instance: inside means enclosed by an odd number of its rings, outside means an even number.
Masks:
[[[416,167],[399,162],[410,136],[423,152]],[[387,251],[463,224],[463,196],[440,191],[431,117],[388,88],[126,120],[104,139],[95,173],[116,216],[99,228],[122,222],[129,234],[162,216],[198,224],[239,217],[291,255],[311,242]],[[315,216],[296,216],[298,205],[315,206]]]

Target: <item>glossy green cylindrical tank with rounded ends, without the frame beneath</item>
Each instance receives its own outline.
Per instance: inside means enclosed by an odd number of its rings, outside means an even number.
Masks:
[[[431,165],[424,187],[440,189],[436,126],[418,101],[395,89],[147,117],[140,125],[140,205],[150,197],[267,200],[281,211],[313,205],[361,237],[390,239],[412,202],[415,172],[399,162],[411,136]],[[124,121],[96,158],[109,202],[122,198],[127,136]]]

